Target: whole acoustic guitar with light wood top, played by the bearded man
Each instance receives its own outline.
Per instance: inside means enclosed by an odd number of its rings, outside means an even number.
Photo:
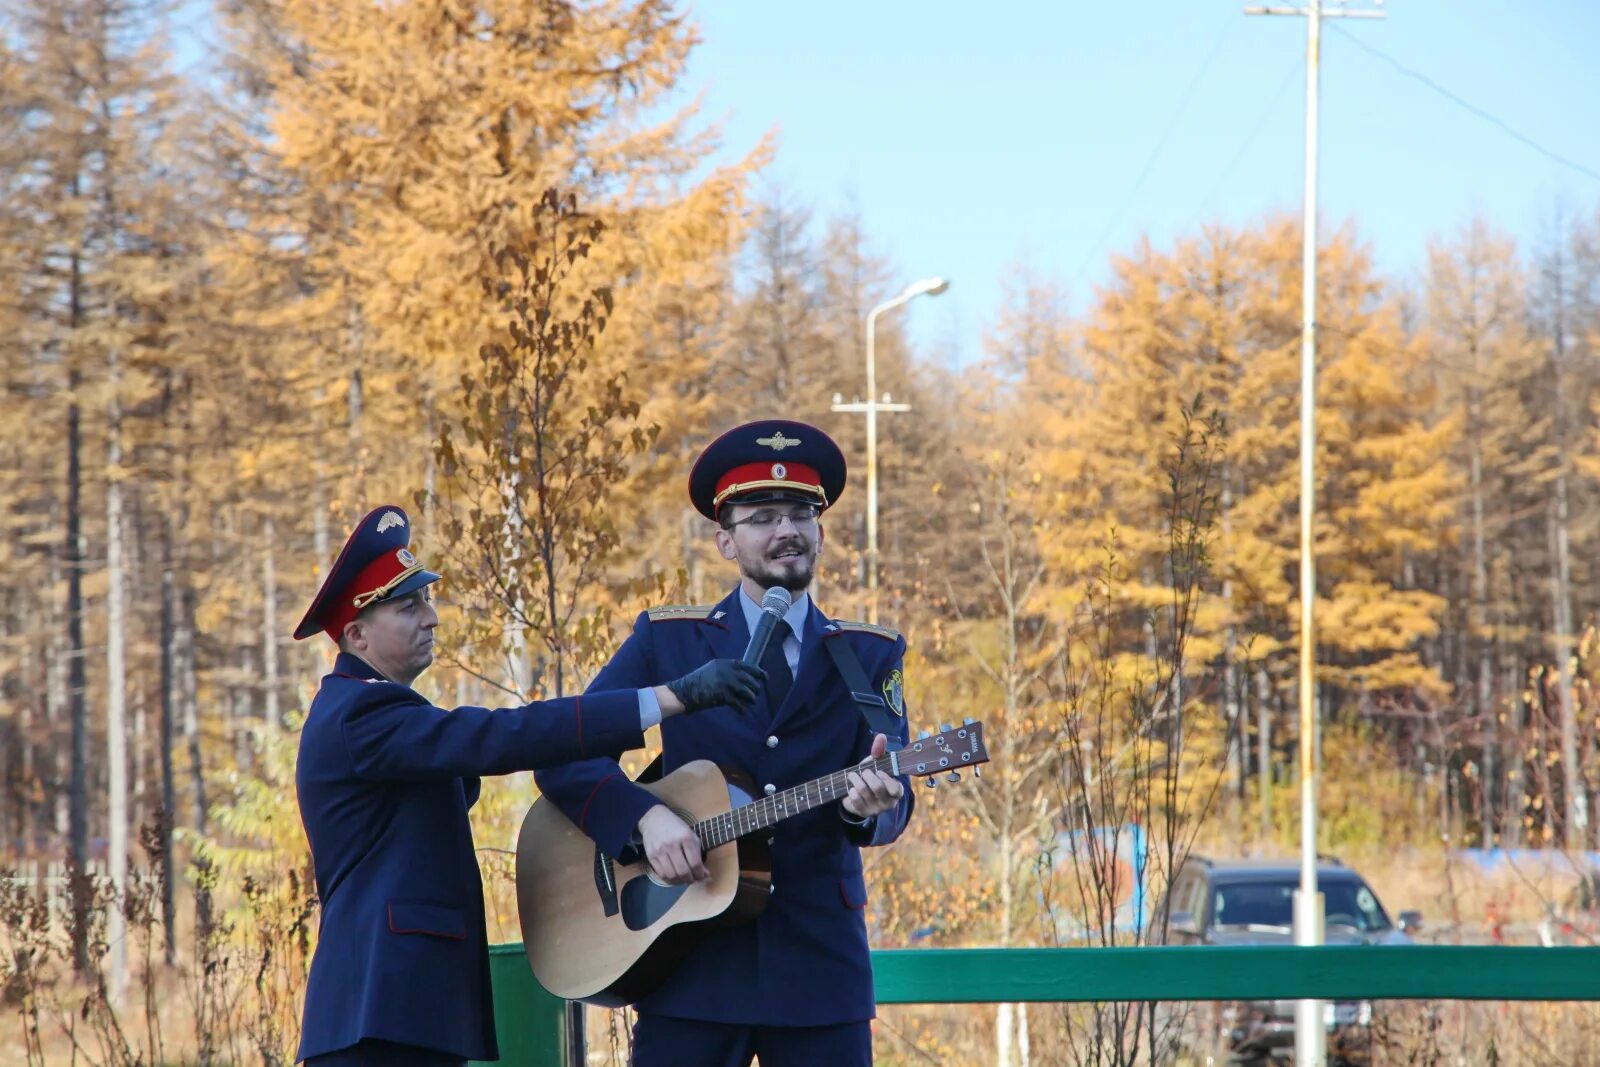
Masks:
[[[894,776],[946,774],[957,781],[963,768],[981,774],[978,766],[987,761],[982,723],[966,720],[923,734],[869,766]],[[517,905],[534,977],[557,997],[608,1008],[651,992],[701,933],[750,921],[766,905],[766,837],[752,835],[843,798],[850,792],[846,776],[856,769],[754,800],[738,787],[738,776],[709,760],[642,782],[699,835],[710,877],[690,885],[666,885],[642,854],[606,856],[555,805],[538,800],[517,837]]]

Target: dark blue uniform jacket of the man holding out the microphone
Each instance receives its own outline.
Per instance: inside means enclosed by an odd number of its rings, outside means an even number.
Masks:
[[[640,744],[634,691],[445,710],[341,654],[294,773],[322,897],[298,1059],[362,1038],[496,1059],[478,776]]]

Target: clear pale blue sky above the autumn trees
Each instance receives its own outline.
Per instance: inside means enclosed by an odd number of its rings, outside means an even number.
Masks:
[[[1331,6],[1331,5],[1330,5]],[[1352,5],[1373,6],[1373,5]],[[1082,310],[1110,254],[1221,221],[1299,213],[1301,18],[1232,0],[699,0],[685,88],[728,154],[779,136],[770,178],[819,218],[859,211],[910,282],[918,352],[968,362],[1018,266]],[[1474,213],[1536,242],[1557,203],[1600,206],[1562,166],[1362,51],[1386,53],[1600,173],[1600,3],[1390,0],[1323,42],[1322,226],[1354,221],[1414,278]],[[1349,37],[1346,37],[1349,35]]]

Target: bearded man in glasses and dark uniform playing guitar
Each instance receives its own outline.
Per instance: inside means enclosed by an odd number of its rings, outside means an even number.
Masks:
[[[664,773],[712,760],[773,793],[875,758],[890,741],[904,744],[904,638],[835,622],[806,593],[822,549],[821,514],[843,488],[838,446],[803,422],[741,426],[694,462],[690,499],[717,523],[717,547],[738,563],[739,584],[715,606],[642,614],[595,688],[650,686],[739,656],[765,592],[781,585],[794,600],[762,659],[768,683],[757,707],[662,723]],[[842,653],[861,678],[854,686]],[[851,689],[866,686],[874,696],[853,699]],[[746,1067],[752,1056],[762,1067],[872,1062],[861,846],[901,835],[912,793],[907,779],[867,768],[851,779],[840,803],[773,827],[773,888],[762,915],[709,933],[638,1001],[635,1067]],[[637,838],[664,880],[707,877],[694,832],[622,776],[616,760],[550,768],[538,782],[603,851],[616,856]]]

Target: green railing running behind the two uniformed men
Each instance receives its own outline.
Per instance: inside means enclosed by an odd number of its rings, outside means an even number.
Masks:
[[[502,1067],[558,1067],[562,1001],[490,949]],[[880,1005],[1110,1000],[1600,1000],[1600,949],[1296,945],[893,949]]]

